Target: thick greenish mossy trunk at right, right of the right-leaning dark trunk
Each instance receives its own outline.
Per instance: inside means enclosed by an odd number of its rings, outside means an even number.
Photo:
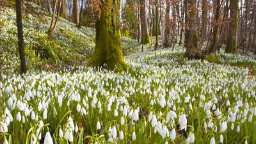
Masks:
[[[230,20],[228,41],[225,52],[237,53],[238,0],[230,0]]]

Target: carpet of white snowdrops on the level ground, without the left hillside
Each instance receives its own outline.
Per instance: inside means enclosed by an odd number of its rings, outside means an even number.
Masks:
[[[132,54],[122,74],[86,67],[25,76],[5,72],[1,140],[255,143],[256,81],[248,68],[187,60],[183,54],[170,49]]]

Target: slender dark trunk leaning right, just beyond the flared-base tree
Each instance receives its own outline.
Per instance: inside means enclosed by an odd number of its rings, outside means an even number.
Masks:
[[[208,49],[208,53],[216,50],[216,44],[218,42],[218,20],[220,17],[220,0],[216,0],[216,14],[215,14],[215,22],[213,26],[213,33],[212,33],[212,43]]]

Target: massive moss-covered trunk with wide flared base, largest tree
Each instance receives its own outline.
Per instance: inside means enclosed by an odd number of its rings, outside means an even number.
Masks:
[[[100,0],[100,19],[96,21],[96,45],[88,66],[127,70],[120,40],[120,0]]]

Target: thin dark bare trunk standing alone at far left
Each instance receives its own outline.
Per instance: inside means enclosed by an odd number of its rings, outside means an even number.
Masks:
[[[23,29],[22,29],[22,15],[21,15],[21,0],[16,0],[16,20],[17,20],[17,30],[18,30],[18,45],[20,54],[20,73],[26,73],[26,59],[24,52],[24,39],[23,39]]]

